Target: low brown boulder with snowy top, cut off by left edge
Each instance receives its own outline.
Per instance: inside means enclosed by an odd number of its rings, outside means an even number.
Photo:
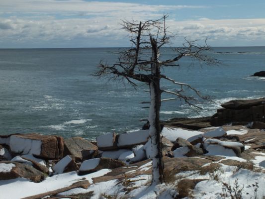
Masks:
[[[38,183],[45,178],[45,175],[27,164],[10,161],[0,162],[0,180],[15,178],[26,178]]]

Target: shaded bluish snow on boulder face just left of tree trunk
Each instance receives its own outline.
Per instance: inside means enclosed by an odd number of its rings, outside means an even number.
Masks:
[[[138,145],[147,142],[149,130],[136,130],[119,135],[118,147]]]

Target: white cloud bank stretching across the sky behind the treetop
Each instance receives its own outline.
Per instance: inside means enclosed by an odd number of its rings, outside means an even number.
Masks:
[[[69,44],[68,47],[128,46],[127,33],[120,20],[156,19],[167,10],[205,8],[205,6],[147,5],[139,3],[84,0],[1,0],[0,44],[5,47]],[[9,13],[4,17],[3,13]],[[16,16],[17,15],[17,16]],[[1,16],[1,15],[0,15]],[[169,31],[178,38],[211,38],[213,45],[224,41],[265,41],[265,19],[176,21],[169,18]],[[229,43],[229,42],[228,42]],[[210,43],[211,44],[211,43]],[[211,44],[212,45],[212,44]],[[3,45],[1,45],[3,46]]]

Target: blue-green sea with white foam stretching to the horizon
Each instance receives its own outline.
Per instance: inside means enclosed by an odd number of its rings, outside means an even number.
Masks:
[[[249,77],[265,70],[265,47],[213,48],[210,56],[220,66],[191,65],[164,73],[188,83],[213,101],[198,101],[196,113],[181,101],[165,102],[162,119],[212,115],[220,103],[265,96],[265,78]],[[101,59],[115,61],[117,48],[0,49],[0,134],[40,132],[64,137],[94,138],[109,132],[140,128],[148,109],[148,88],[137,91],[126,82],[108,82],[91,76]],[[169,48],[162,57],[173,56]],[[162,82],[163,88],[174,85]],[[167,97],[167,96],[166,96]],[[168,96],[169,97],[169,96]]]

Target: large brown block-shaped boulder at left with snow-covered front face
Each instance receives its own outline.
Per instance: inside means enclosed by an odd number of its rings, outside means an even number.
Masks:
[[[33,154],[43,159],[60,159],[63,156],[63,138],[40,134],[11,135],[10,150],[18,154]]]

